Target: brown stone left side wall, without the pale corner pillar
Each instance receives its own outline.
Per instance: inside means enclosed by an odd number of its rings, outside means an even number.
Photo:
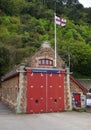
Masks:
[[[18,94],[18,76],[2,82],[2,101],[15,110]]]

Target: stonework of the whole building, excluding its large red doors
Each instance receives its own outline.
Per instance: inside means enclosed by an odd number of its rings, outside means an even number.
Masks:
[[[87,93],[87,90],[83,86],[79,85],[76,80],[71,78],[69,69],[65,68],[64,61],[58,55],[57,66],[55,67],[54,57],[54,50],[50,47],[48,42],[44,42],[33,56],[24,61],[23,64],[7,73],[2,78],[2,101],[16,113],[27,113],[27,94],[29,94],[27,92],[27,68],[31,70],[37,69],[37,71],[47,70],[48,72],[51,70],[53,73],[54,71],[58,72],[59,70],[62,70],[62,72],[65,72],[64,81],[62,83],[64,85],[64,111],[72,110],[72,107],[74,107],[72,97],[73,94],[81,93],[81,96],[83,96]],[[42,72],[40,73],[42,75]],[[32,74],[33,73],[31,73],[31,76]],[[36,100],[36,103],[37,102],[38,100]],[[57,102],[56,99],[55,102]],[[84,103],[82,102],[81,104],[83,105]]]

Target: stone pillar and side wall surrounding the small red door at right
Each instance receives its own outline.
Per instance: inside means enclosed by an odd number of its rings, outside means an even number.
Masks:
[[[81,97],[86,98],[86,94],[84,94],[83,90],[77,85],[74,80],[69,78],[69,85],[67,81],[67,75],[65,75],[65,80],[64,80],[64,102],[65,102],[65,110],[72,110],[74,107],[74,101],[73,101],[73,93],[77,92],[81,94]],[[81,100],[81,107],[84,108],[86,103],[86,99],[83,101]]]

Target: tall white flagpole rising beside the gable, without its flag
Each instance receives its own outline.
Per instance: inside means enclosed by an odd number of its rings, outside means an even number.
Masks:
[[[55,67],[56,67],[57,66],[57,47],[56,47],[57,38],[56,38],[56,19],[55,19],[55,17],[56,17],[56,13],[54,13],[54,40],[55,40]]]

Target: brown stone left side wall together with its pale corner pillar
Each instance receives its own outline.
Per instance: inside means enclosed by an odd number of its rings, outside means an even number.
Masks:
[[[25,71],[2,82],[2,101],[16,113],[26,113],[27,79]]]

